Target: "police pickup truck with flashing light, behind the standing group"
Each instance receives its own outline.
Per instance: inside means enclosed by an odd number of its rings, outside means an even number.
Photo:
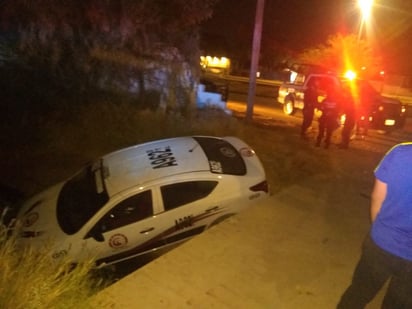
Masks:
[[[329,73],[297,74],[293,82],[282,83],[278,102],[283,105],[285,114],[293,115],[303,108],[304,92],[312,79],[318,84],[319,102],[328,87],[342,89],[344,83],[351,83],[349,86],[355,91],[352,94],[357,107],[358,125],[388,132],[405,124],[406,106],[401,101],[381,95],[367,80],[347,80]]]

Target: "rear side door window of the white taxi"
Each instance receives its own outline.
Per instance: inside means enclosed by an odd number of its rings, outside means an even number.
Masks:
[[[165,210],[192,203],[208,196],[217,181],[187,181],[161,187]]]

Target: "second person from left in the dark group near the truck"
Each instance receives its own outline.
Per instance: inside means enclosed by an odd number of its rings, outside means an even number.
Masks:
[[[316,146],[319,147],[325,137],[325,149],[329,148],[333,131],[338,128],[339,98],[335,87],[329,87],[326,98],[319,105],[322,115],[319,118],[319,133],[316,139]],[[326,135],[325,135],[326,133]]]

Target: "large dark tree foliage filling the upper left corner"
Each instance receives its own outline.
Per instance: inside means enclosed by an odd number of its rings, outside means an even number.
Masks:
[[[196,74],[197,25],[211,16],[215,2],[6,0],[0,55],[59,92],[137,89],[143,97],[147,87],[156,88],[159,70],[180,64],[175,74]]]

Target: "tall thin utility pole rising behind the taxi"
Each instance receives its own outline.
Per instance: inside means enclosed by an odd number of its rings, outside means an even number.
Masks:
[[[256,92],[256,73],[259,65],[260,40],[262,37],[262,21],[265,0],[257,0],[255,29],[253,32],[252,63],[250,65],[249,92],[246,108],[246,122],[252,121],[253,104]]]

